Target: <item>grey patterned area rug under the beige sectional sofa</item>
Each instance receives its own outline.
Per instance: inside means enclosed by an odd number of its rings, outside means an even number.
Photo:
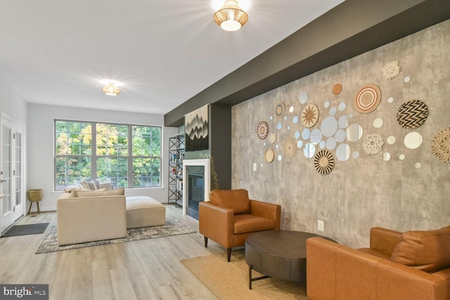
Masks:
[[[144,228],[127,229],[127,237],[113,240],[101,240],[97,242],[84,242],[80,244],[68,244],[58,246],[58,233],[56,228],[56,221],[51,224],[49,231],[46,233],[44,240],[37,248],[36,254],[56,252],[69,249],[79,249],[84,247],[100,246],[103,244],[117,244],[120,242],[131,242],[135,240],[153,239],[156,237],[167,237],[169,235],[184,235],[186,233],[195,233],[188,226],[185,226],[171,216],[166,216],[166,225],[153,226]]]

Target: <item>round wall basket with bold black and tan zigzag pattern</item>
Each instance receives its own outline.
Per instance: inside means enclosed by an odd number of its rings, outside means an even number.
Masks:
[[[428,107],[420,100],[409,100],[403,103],[397,111],[397,122],[405,129],[416,129],[428,117]]]

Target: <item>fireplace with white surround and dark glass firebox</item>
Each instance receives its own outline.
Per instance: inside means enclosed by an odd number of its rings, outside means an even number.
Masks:
[[[184,159],[183,214],[198,220],[198,204],[209,201],[210,159]]]

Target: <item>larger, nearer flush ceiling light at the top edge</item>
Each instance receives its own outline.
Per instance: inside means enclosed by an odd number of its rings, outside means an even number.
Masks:
[[[240,8],[236,0],[226,0],[224,6],[214,13],[214,21],[226,31],[238,30],[247,20],[248,14]]]

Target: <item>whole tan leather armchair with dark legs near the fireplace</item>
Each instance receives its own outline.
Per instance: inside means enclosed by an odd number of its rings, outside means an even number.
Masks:
[[[198,226],[205,237],[231,249],[245,244],[248,235],[263,230],[280,230],[281,206],[248,198],[247,190],[212,190],[210,202],[200,202]]]

